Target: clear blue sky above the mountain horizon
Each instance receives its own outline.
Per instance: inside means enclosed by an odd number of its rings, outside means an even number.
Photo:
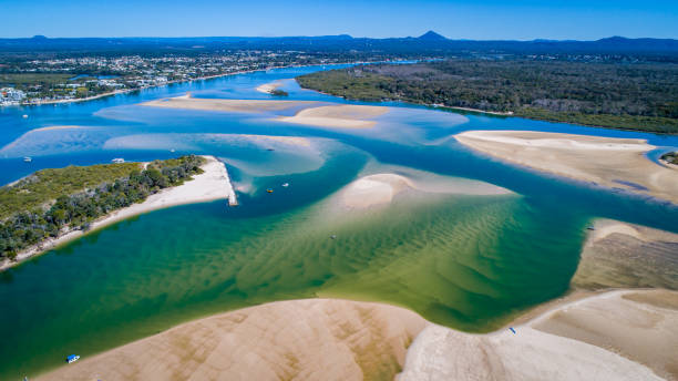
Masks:
[[[419,35],[678,38],[678,0],[0,0],[0,38]]]

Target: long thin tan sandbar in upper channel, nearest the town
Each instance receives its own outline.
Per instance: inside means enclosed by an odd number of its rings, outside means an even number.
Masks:
[[[189,94],[167,97],[157,101],[144,102],[143,106],[223,111],[233,113],[260,113],[268,111],[281,111],[298,106],[316,104],[312,101],[261,101],[261,100],[219,100],[192,97]]]

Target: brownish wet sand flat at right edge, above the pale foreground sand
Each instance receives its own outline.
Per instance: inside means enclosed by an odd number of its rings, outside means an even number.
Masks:
[[[678,234],[610,219],[598,219],[594,227],[573,287],[678,290]]]

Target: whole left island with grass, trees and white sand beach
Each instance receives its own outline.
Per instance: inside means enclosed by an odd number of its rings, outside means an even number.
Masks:
[[[0,188],[0,270],[134,215],[219,198],[237,204],[213,156],[41,169]]]

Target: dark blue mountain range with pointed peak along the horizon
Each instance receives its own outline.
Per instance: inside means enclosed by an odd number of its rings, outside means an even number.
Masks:
[[[304,49],[315,51],[492,52],[492,53],[619,53],[678,56],[678,40],[608,37],[599,40],[464,40],[449,39],[432,30],[419,37],[355,38],[337,35],[294,37],[133,37],[133,38],[48,38],[34,35],[0,39],[0,52],[105,51],[155,49],[158,51],[214,51],[220,49]]]

